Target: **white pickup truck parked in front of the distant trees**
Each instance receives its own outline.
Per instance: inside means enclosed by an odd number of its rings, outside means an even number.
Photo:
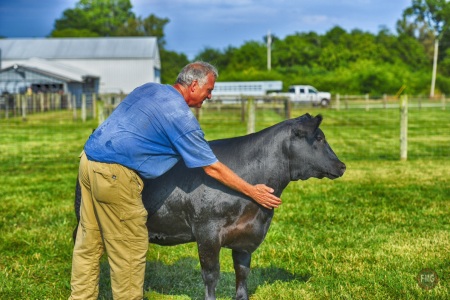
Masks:
[[[287,96],[292,102],[312,103],[312,105],[328,106],[331,102],[331,94],[319,92],[310,85],[291,85],[287,93],[278,93],[279,96]]]

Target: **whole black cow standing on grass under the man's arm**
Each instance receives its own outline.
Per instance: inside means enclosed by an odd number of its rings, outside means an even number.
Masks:
[[[320,115],[305,114],[260,132],[210,143],[217,158],[249,183],[265,183],[280,196],[290,181],[335,179],[345,172],[319,129]],[[219,251],[232,249],[236,299],[248,299],[247,276],[253,251],[264,240],[274,210],[229,189],[181,161],[170,171],[144,181],[142,199],[149,211],[151,243],[197,242],[205,299],[215,299]],[[78,216],[80,196],[75,208]]]

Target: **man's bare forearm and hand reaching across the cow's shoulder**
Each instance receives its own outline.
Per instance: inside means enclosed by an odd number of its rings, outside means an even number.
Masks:
[[[206,174],[212,178],[220,181],[233,190],[249,196],[265,208],[272,209],[281,204],[281,199],[272,194],[272,188],[265,184],[251,185],[221,162],[216,162],[212,165],[203,167],[203,170],[205,170]]]

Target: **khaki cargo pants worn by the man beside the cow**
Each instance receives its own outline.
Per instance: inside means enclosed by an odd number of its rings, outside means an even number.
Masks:
[[[81,155],[80,224],[72,260],[70,299],[97,299],[106,250],[114,299],[142,299],[148,250],[143,182],[132,170]]]

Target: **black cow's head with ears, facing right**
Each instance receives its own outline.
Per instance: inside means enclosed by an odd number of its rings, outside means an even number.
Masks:
[[[345,172],[345,164],[328,145],[319,128],[322,116],[305,114],[293,120],[289,147],[291,180],[311,177],[335,179]]]

